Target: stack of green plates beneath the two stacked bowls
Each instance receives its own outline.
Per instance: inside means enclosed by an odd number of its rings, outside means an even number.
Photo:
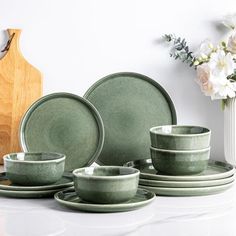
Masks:
[[[139,186],[158,195],[201,196],[220,193],[233,185],[235,169],[219,161],[209,161],[205,171],[197,175],[172,176],[157,172],[151,159],[125,164],[140,170]]]

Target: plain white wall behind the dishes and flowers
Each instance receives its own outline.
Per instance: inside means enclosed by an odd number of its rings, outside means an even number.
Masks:
[[[0,47],[5,29],[23,30],[22,52],[43,72],[45,94],[82,96],[96,80],[119,71],[155,79],[172,97],[178,123],[212,129],[212,158],[223,160],[219,102],[200,92],[195,71],[169,58],[159,38],[176,33],[193,48],[205,38],[218,41],[223,32],[215,22],[234,6],[234,0],[0,0]]]

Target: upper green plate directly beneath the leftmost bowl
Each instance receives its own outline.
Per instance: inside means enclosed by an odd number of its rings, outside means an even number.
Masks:
[[[6,172],[0,173],[0,189],[13,190],[13,191],[35,191],[35,190],[52,190],[62,189],[73,186],[74,182],[71,178],[62,177],[59,181],[50,185],[42,186],[21,186],[11,183],[6,177]]]

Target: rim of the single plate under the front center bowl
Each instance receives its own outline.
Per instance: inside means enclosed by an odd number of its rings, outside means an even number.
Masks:
[[[54,199],[63,206],[66,206],[68,208],[77,209],[80,211],[87,211],[87,212],[117,212],[119,210],[129,211],[129,210],[123,210],[123,209],[125,207],[129,207],[129,206],[130,206],[130,208],[129,208],[130,210],[136,209],[138,207],[145,206],[145,205],[151,203],[156,198],[156,194],[154,192],[147,190],[147,189],[143,189],[143,188],[138,188],[137,191],[140,191],[140,190],[145,191],[146,193],[150,194],[150,198],[148,198],[144,201],[139,201],[139,202],[135,202],[135,203],[118,203],[118,204],[74,203],[74,202],[65,201],[65,200],[62,200],[61,198],[59,198],[59,194],[63,194],[63,192],[69,191],[71,193],[75,193],[74,188],[69,188],[69,189],[65,189],[65,190],[55,193]],[[85,210],[85,209],[76,208],[78,206],[88,207],[90,209]],[[91,207],[95,208],[95,209],[91,209]],[[109,209],[111,209],[111,207],[114,207],[115,209],[109,210]]]

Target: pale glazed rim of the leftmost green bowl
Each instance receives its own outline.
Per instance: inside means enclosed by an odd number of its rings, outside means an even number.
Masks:
[[[12,155],[17,155],[17,154],[24,154],[24,155],[42,155],[42,154],[47,154],[47,155],[55,155],[58,156],[57,158],[55,157],[54,159],[51,160],[40,160],[40,161],[29,161],[29,160],[12,160],[10,156]],[[14,163],[34,163],[34,164],[42,164],[42,163],[59,163],[61,161],[64,161],[66,159],[66,156],[62,153],[58,152],[14,152],[14,153],[8,153],[3,156],[3,160],[6,162],[14,162]]]

